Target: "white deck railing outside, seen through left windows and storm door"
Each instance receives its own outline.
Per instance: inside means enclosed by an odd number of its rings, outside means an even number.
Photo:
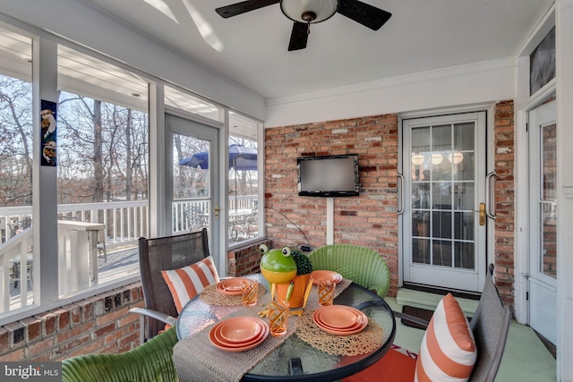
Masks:
[[[256,206],[256,196],[229,198],[230,211],[253,209]],[[174,200],[174,233],[208,226],[210,208],[209,199]],[[108,251],[117,247],[134,247],[139,237],[148,236],[148,214],[147,200],[57,206],[58,219],[103,223],[106,228],[102,237],[98,237],[98,244],[105,242]],[[28,283],[31,281],[32,217],[31,206],[0,208],[0,312],[25,306],[30,301]],[[15,288],[14,285],[19,287]]]

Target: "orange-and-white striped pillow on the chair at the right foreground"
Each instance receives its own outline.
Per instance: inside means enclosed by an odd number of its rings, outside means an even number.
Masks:
[[[415,381],[466,381],[476,357],[474,334],[458,301],[448,293],[423,335]]]

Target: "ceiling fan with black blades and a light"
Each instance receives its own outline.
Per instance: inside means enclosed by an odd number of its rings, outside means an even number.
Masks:
[[[304,49],[311,24],[328,20],[334,13],[338,12],[371,30],[379,30],[392,16],[392,13],[358,0],[246,0],[215,11],[227,19],[277,3],[280,3],[280,10],[286,17],[295,21],[288,43],[289,51]]]

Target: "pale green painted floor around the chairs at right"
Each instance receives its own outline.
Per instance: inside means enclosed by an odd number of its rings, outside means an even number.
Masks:
[[[384,299],[392,310],[402,311],[395,297]],[[422,342],[423,330],[406,327],[397,319],[397,332],[394,344],[412,352],[417,352]],[[557,370],[551,352],[526,325],[511,321],[508,342],[505,345],[496,382],[555,382]]]

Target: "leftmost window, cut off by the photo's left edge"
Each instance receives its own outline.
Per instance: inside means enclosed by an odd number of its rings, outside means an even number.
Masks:
[[[31,39],[0,27],[0,314],[33,302]]]

